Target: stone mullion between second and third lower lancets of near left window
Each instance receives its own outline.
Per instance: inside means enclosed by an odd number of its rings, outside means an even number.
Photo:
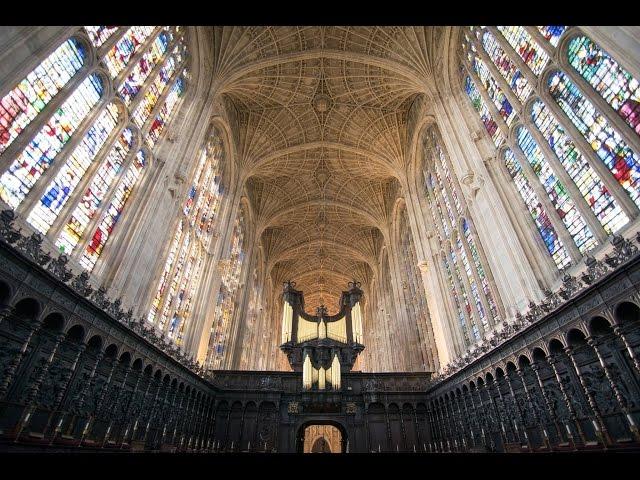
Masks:
[[[89,75],[98,72],[100,71],[94,69]],[[104,76],[106,77],[107,74],[104,74]],[[80,145],[89,129],[95,124],[100,114],[105,111],[107,105],[109,105],[113,100],[114,96],[113,92],[111,91],[109,82],[104,81],[102,95],[100,96],[98,102],[93,107],[91,107],[87,115],[78,125],[78,128],[76,128],[76,130],[71,135],[71,138],[69,138],[67,143],[57,153],[57,155],[54,157],[53,162],[51,162],[46,171],[43,172],[42,175],[40,175],[40,177],[35,181],[22,202],[20,202],[20,204],[16,207],[15,210],[18,215],[27,217],[29,213],[31,213],[31,210],[38,204],[38,202],[44,195],[51,180],[56,178],[60,170],[67,164],[67,161],[69,160],[71,154],[75,151],[76,147]],[[109,139],[110,137],[107,138]]]

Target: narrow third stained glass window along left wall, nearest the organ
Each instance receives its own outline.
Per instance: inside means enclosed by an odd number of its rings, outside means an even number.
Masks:
[[[240,283],[240,273],[242,272],[244,263],[244,223],[244,209],[241,208],[233,224],[229,257],[222,262],[222,278],[216,301],[213,324],[211,325],[211,336],[209,337],[209,350],[207,353],[207,368],[209,369],[219,369],[223,367],[223,360],[229,340],[229,329],[238,303],[236,297]]]

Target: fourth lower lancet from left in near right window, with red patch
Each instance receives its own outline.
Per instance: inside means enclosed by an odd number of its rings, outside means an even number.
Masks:
[[[553,73],[548,85],[556,103],[635,204],[640,206],[640,165],[636,153],[564,73]]]

